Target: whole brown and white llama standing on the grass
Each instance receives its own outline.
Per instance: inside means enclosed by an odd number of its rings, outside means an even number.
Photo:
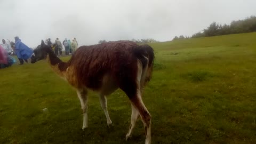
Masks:
[[[131,101],[131,125],[126,140],[131,137],[135,122],[140,116],[145,127],[145,143],[151,142],[151,116],[144,105],[141,93],[150,81],[154,65],[154,50],[149,45],[137,45],[130,41],[108,42],[80,46],[68,62],[62,62],[43,40],[31,57],[31,63],[46,59],[52,69],[73,86],[83,110],[83,127],[87,125],[87,90],[99,93],[101,107],[107,124],[111,119],[107,110],[106,95],[118,88]]]

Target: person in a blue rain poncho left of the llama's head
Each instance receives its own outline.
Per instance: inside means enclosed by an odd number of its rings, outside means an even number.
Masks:
[[[27,45],[23,44],[18,36],[15,36],[14,39],[15,39],[15,45],[14,45],[15,53],[17,54],[17,57],[20,61],[20,65],[23,65],[24,63],[23,59],[26,62],[28,62],[27,60],[33,54],[33,50],[30,49]]]

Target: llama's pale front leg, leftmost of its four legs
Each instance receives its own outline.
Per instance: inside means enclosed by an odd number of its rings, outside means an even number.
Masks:
[[[83,116],[84,116],[84,122],[83,122],[82,129],[85,129],[86,127],[88,127],[88,124],[87,124],[87,117],[88,117],[88,114],[87,114],[87,109],[88,109],[87,91],[86,90],[77,90],[77,96],[81,102],[81,107],[82,107]]]

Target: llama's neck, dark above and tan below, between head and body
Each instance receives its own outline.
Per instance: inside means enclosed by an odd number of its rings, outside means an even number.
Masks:
[[[51,50],[47,52],[46,60],[55,73],[66,78],[67,62],[62,62]]]

